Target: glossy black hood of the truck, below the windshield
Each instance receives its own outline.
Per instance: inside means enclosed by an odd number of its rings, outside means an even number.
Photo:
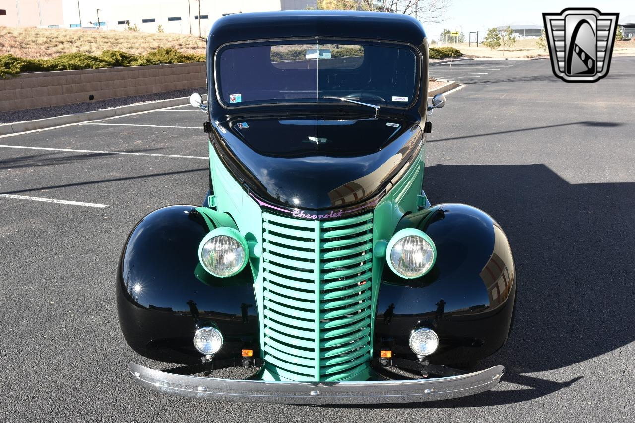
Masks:
[[[422,133],[400,119],[257,117],[219,124],[225,163],[273,205],[328,210],[382,192],[411,163]]]

